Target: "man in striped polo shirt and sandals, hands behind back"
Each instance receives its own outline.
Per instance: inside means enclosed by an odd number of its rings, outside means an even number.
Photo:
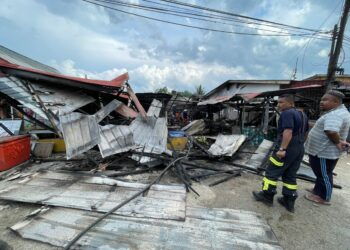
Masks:
[[[333,170],[350,128],[350,113],[343,103],[344,94],[331,90],[321,99],[320,109],[325,113],[316,121],[305,143],[305,152],[316,175],[314,188],[307,190],[307,200],[329,205],[333,189]]]

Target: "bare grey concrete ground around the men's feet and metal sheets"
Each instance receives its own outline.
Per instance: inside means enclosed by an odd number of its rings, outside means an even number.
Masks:
[[[253,200],[251,192],[261,188],[262,177],[243,173],[215,187],[208,187],[214,179],[194,183],[193,187],[201,195],[190,193],[189,205],[217,208],[234,208],[258,212],[272,227],[284,249],[340,249],[350,250],[350,157],[342,158],[335,172],[334,182],[342,189],[334,189],[332,205],[313,204],[306,199],[305,188],[312,183],[299,180],[299,199],[296,212],[291,214],[277,202],[267,207]],[[279,189],[280,193],[280,189]],[[36,205],[0,201],[0,239],[6,241],[13,249],[60,249],[57,247],[22,239],[11,232],[8,227],[22,220],[38,208]],[[0,245],[1,249],[1,245]]]

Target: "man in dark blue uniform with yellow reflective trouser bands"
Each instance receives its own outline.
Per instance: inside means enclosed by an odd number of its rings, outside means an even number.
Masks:
[[[269,158],[265,171],[262,191],[253,191],[257,201],[273,204],[277,193],[277,180],[282,177],[283,197],[278,202],[288,211],[294,212],[294,203],[298,196],[296,174],[304,156],[304,139],[308,131],[306,115],[294,107],[292,95],[282,95],[278,99],[278,109],[282,112],[278,121],[276,147]]]

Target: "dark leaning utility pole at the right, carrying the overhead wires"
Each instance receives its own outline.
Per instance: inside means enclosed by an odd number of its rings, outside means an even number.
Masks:
[[[345,30],[346,23],[348,21],[349,10],[350,10],[350,0],[345,0],[344,10],[340,20],[339,32],[337,32],[337,25],[334,26],[334,30],[333,30],[333,40],[332,40],[332,47],[330,51],[330,58],[329,58],[328,72],[327,72],[327,79],[326,79],[327,90],[330,90],[334,87],[335,72],[338,66],[340,50],[343,45],[344,30]],[[336,42],[335,42],[335,37],[337,37]],[[335,48],[334,48],[334,44],[335,44]]]

